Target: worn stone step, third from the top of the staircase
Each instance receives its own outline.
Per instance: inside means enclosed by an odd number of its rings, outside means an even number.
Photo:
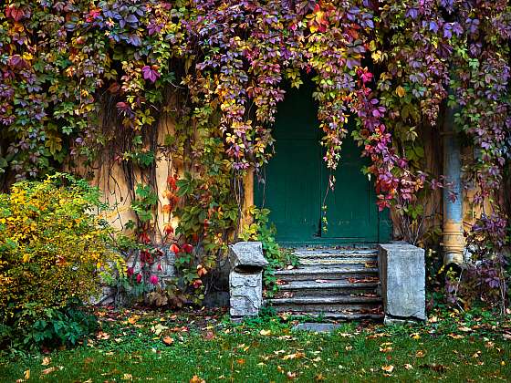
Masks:
[[[291,281],[349,281],[366,280],[378,276],[377,267],[365,267],[364,264],[352,264],[349,266],[336,265],[303,265],[291,270],[277,270],[276,278],[284,282]],[[373,282],[373,281],[368,281]]]

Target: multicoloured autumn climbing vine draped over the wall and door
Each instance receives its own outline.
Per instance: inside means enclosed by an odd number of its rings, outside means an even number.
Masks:
[[[308,76],[328,168],[342,162],[355,116],[351,134],[371,160],[364,171],[381,209],[444,186],[424,169],[420,131],[440,131],[448,109],[476,149],[466,175],[483,202],[495,197],[509,156],[510,23],[503,0],[8,0],[2,181],[108,155],[131,185],[132,227],[146,241],[157,157],[181,159],[162,195],[163,239],[200,288],[238,227],[243,176],[272,155],[283,84]],[[163,118],[175,127],[162,143]]]

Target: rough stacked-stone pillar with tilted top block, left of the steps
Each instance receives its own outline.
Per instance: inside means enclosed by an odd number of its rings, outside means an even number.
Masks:
[[[260,242],[229,246],[230,315],[233,319],[257,316],[263,304],[263,267],[268,264]]]

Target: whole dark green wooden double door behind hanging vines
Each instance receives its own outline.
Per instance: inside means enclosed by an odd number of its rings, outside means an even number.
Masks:
[[[312,92],[311,84],[287,90],[273,132],[276,152],[263,170],[263,180],[255,181],[255,203],[270,209],[281,244],[385,242],[389,220],[378,212],[374,187],[360,172],[367,159],[360,158],[351,138],[343,143],[335,190],[327,193],[329,173],[322,160]],[[323,203],[327,231],[322,227]]]

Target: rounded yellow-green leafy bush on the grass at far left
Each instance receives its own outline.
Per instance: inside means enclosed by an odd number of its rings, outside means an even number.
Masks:
[[[62,173],[0,194],[0,317],[12,336],[31,328],[37,344],[73,344],[89,328],[69,303],[99,295],[113,265],[124,270],[94,214],[103,208],[97,189]]]

